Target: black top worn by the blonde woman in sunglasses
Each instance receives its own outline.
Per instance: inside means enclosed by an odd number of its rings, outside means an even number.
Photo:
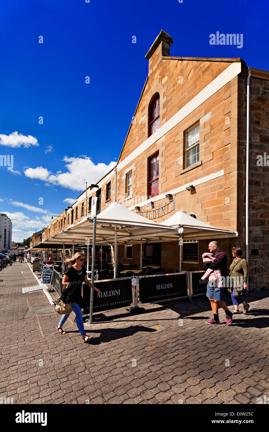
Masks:
[[[87,275],[85,267],[82,267],[81,270],[76,270],[73,266],[68,267],[65,274],[69,278],[69,285],[67,288],[63,289],[61,299],[64,303],[77,303],[80,308],[83,308],[84,303],[81,295],[81,289],[82,282]]]

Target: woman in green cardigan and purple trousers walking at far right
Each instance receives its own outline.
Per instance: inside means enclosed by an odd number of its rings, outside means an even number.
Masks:
[[[250,305],[246,303],[241,295],[243,288],[247,289],[247,260],[242,258],[243,251],[241,248],[232,248],[234,260],[230,265],[230,277],[232,278],[232,286],[228,288],[231,292],[231,299],[234,305],[233,314],[240,314],[239,305],[242,303],[244,306],[243,314],[247,314]],[[243,281],[243,283],[242,283]]]

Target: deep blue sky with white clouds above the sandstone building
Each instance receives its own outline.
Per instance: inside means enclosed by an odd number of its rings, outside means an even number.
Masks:
[[[253,7],[243,0],[2,3],[0,154],[12,169],[0,166],[0,213],[13,221],[13,241],[42,229],[117,161],[148,73],[145,54],[161,29],[174,39],[172,56],[241,57],[269,70],[269,6]],[[243,47],[209,44],[216,32],[243,34]]]

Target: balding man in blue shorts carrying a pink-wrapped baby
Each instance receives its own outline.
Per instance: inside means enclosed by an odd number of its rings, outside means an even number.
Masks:
[[[204,263],[204,270],[218,269],[222,276],[227,276],[227,256],[224,252],[220,251],[217,241],[211,241],[208,245],[209,252],[216,258],[215,262]],[[226,314],[226,324],[230,325],[233,322],[233,314],[229,311],[226,303],[223,301],[223,286],[215,286],[213,282],[208,282],[206,287],[206,297],[209,298],[210,305],[214,314],[214,318],[206,321],[206,324],[220,324],[218,318],[218,308],[222,308]]]

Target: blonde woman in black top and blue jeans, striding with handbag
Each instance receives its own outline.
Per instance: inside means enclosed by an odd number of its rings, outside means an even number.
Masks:
[[[93,336],[87,336],[83,326],[81,311],[83,308],[83,298],[81,295],[82,282],[98,293],[100,293],[100,290],[89,282],[85,267],[82,266],[84,260],[85,256],[80,252],[76,252],[76,254],[74,254],[71,259],[65,260],[66,263],[69,263],[69,266],[65,272],[65,275],[63,276],[63,286],[67,286],[66,289],[63,290],[61,299],[64,303],[71,302],[72,309],[76,314],[76,325],[82,336],[82,340],[84,343],[88,343]],[[69,315],[70,314],[63,315],[59,324],[57,325],[57,330],[60,332],[60,334],[66,334],[66,332],[62,329],[62,325],[65,323]]]

